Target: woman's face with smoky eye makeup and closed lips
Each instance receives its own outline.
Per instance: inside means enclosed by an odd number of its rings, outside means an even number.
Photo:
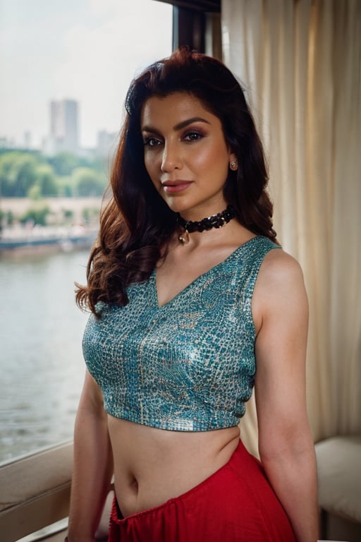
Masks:
[[[199,220],[226,207],[223,188],[235,155],[221,121],[193,95],[150,97],[142,109],[145,167],[171,210]]]

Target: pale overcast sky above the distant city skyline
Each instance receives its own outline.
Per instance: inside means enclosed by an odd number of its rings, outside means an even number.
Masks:
[[[156,0],[0,0],[0,138],[49,135],[51,100],[80,102],[80,145],[118,132],[133,77],[171,53],[172,6]]]

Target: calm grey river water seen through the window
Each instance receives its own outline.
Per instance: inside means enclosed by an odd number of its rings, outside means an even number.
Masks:
[[[87,251],[0,258],[0,462],[71,440],[87,314]]]

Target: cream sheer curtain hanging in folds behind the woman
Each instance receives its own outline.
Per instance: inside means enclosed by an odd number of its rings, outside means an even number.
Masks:
[[[266,148],[279,240],[305,274],[314,440],[361,432],[361,2],[223,0],[221,24]],[[256,452],[254,402],[241,427]]]

